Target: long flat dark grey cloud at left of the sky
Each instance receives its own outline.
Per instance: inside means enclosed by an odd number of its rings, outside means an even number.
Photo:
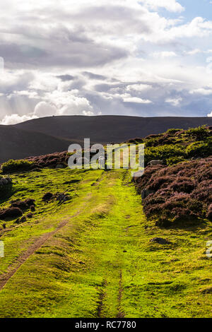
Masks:
[[[49,41],[48,47],[4,44],[0,45],[1,57],[11,68],[69,67],[80,68],[103,66],[117,59],[128,56],[127,50],[110,47],[104,44],[89,42],[74,42],[73,40]]]

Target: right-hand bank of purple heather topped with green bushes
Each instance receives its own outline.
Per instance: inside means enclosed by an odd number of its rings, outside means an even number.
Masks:
[[[146,169],[134,182],[146,216],[162,227],[204,225],[212,218],[212,127],[170,129],[144,142]]]

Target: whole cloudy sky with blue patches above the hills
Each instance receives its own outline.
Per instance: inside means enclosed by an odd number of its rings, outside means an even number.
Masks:
[[[212,1],[0,3],[0,124],[212,117]]]

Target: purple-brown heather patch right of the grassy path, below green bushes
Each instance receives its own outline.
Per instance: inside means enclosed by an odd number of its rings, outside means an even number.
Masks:
[[[212,217],[212,158],[172,167],[146,167],[136,189],[153,189],[143,199],[143,211],[158,226],[192,225]]]

